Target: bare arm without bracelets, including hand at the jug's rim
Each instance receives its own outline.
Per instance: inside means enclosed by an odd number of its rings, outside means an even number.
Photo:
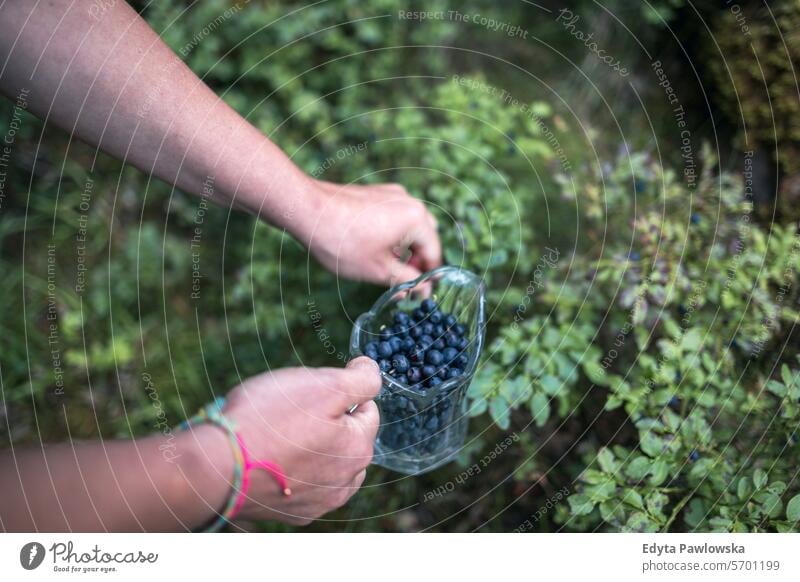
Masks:
[[[15,98],[23,89],[46,121],[286,229],[343,276],[394,283],[441,262],[435,222],[405,189],[306,175],[125,2],[0,4],[0,91]]]

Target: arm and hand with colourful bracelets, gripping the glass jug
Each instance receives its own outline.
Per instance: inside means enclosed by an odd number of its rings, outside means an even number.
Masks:
[[[305,524],[339,507],[372,459],[380,389],[374,362],[287,368],[246,380],[225,416],[253,458],[279,463],[292,489],[253,473],[242,519]],[[353,414],[352,404],[360,406]],[[174,531],[208,523],[230,494],[225,433],[200,424],[136,440],[42,444],[0,452],[0,529]]]

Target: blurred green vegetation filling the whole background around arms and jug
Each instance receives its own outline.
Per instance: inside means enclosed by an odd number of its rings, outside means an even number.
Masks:
[[[800,2],[424,6],[524,38],[401,0],[134,5],[309,173],[429,202],[489,284],[459,463],[375,469],[308,529],[796,528]],[[342,365],[380,289],[3,101],[9,132],[3,440],[147,434],[265,369]]]

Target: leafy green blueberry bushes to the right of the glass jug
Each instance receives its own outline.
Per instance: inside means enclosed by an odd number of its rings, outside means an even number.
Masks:
[[[503,329],[472,386],[501,428],[541,426],[548,399],[553,431],[615,419],[609,444],[585,437],[566,528],[793,528],[800,368],[773,354],[797,320],[797,232],[751,224],[741,185],[704,159],[691,198],[648,156],[587,172],[582,223],[602,245],[548,279],[546,315]]]

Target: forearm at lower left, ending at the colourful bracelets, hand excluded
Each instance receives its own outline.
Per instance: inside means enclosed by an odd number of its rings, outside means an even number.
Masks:
[[[5,531],[174,531],[222,509],[233,458],[222,431],[0,453]]]

